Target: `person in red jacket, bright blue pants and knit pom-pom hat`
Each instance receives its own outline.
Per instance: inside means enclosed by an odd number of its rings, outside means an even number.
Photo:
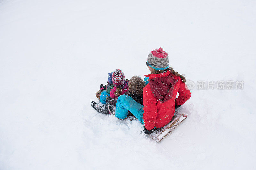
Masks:
[[[149,53],[146,65],[151,74],[145,75],[149,83],[143,89],[144,106],[127,95],[121,95],[117,100],[115,116],[124,119],[130,111],[144,124],[146,134],[151,133],[153,128],[167,125],[174,115],[175,107],[191,97],[185,85],[185,77],[169,66],[168,58],[163,48]],[[177,92],[179,96],[176,99]]]

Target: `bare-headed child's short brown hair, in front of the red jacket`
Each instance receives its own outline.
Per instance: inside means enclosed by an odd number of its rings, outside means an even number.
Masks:
[[[129,91],[138,96],[143,95],[143,88],[146,86],[144,80],[139,76],[133,76],[129,81]]]

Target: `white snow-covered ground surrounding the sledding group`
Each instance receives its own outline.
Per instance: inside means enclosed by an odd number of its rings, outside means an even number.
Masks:
[[[255,169],[256,2],[0,0],[0,169]],[[160,143],[90,106],[151,50],[197,81]]]

